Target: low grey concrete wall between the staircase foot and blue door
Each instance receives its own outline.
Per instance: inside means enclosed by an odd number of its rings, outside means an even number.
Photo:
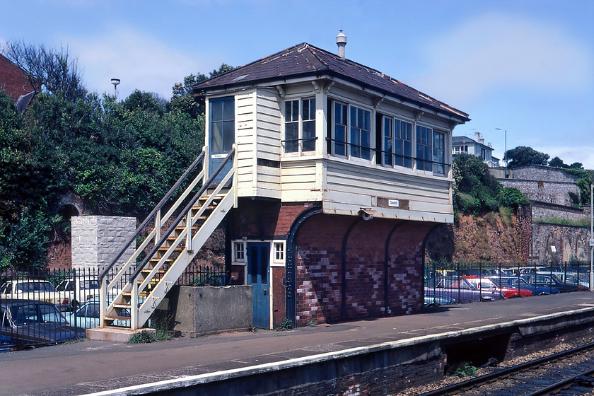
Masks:
[[[168,293],[175,312],[173,330],[208,334],[252,325],[252,286],[174,286]]]

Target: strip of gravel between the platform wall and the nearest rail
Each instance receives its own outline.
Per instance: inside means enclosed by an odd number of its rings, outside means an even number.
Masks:
[[[542,351],[535,352],[533,354],[528,354],[525,356],[518,356],[513,359],[502,361],[499,364],[497,364],[496,366],[479,367],[479,368],[477,368],[477,376],[493,373],[494,371],[499,371],[499,370],[502,370],[503,368],[516,366],[520,363],[525,363],[527,361],[539,359],[544,356],[557,354],[559,352],[566,351],[571,348],[581,347],[582,345],[588,344],[590,342],[594,342],[594,337],[580,338],[580,339],[565,339],[563,342],[561,342],[561,343],[557,344],[555,347],[552,347],[549,349],[543,349]],[[471,378],[473,378],[473,377],[446,376],[442,380],[438,380],[433,383],[426,383],[424,385],[415,386],[413,388],[408,388],[407,390],[403,390],[402,392],[393,393],[390,396],[418,396],[425,392],[430,392],[431,390],[444,388],[448,385],[453,385],[455,383],[460,383],[465,380],[470,380]]]

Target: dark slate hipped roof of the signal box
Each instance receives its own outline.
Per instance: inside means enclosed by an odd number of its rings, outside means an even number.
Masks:
[[[192,88],[194,93],[199,95],[202,91],[324,75],[344,78],[351,83],[371,88],[388,96],[409,100],[422,107],[460,118],[465,122],[470,120],[465,112],[431,98],[395,78],[349,59],[342,59],[336,54],[320,50],[306,42],[197,83]]]

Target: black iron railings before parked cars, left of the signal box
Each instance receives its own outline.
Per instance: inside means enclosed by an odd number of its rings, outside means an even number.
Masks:
[[[94,268],[0,270],[0,351],[84,338],[100,324],[99,275]],[[223,265],[190,265],[176,284],[225,286],[226,279]]]

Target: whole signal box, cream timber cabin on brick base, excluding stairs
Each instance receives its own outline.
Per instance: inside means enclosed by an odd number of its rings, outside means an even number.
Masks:
[[[236,147],[227,238],[260,327],[420,310],[424,240],[453,222],[468,115],[339,53],[302,43],[193,87],[205,177]]]

